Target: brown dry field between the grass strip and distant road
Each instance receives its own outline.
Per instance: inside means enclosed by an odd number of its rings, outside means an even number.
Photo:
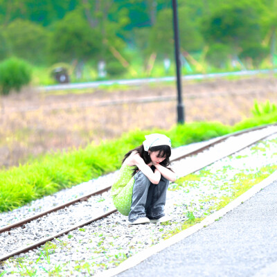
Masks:
[[[155,102],[134,102],[157,97]],[[41,93],[25,89],[1,97],[0,166],[25,163],[46,152],[99,143],[132,129],[170,129],[177,122],[174,84],[93,89],[82,93]],[[251,116],[254,99],[277,102],[277,79],[184,82],[186,122],[217,120],[233,125]],[[109,100],[127,103],[108,105]],[[161,101],[159,101],[161,100]],[[163,100],[163,101],[162,101]]]

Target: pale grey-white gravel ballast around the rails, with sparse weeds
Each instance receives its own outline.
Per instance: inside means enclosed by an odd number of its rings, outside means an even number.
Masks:
[[[247,136],[244,138],[247,139]],[[17,258],[10,258],[1,266],[1,270],[6,271],[4,276],[11,274],[12,276],[21,276],[27,271],[29,274],[33,272],[34,275],[30,276],[49,276],[49,274],[53,274],[53,276],[89,276],[104,269],[115,267],[138,251],[177,233],[184,228],[184,222],[187,220],[196,222],[197,219],[201,220],[213,213],[222,203],[222,199],[234,197],[238,190],[238,182],[235,180],[254,181],[260,178],[261,172],[262,177],[268,176],[271,173],[270,167],[276,165],[277,161],[276,142],[277,136],[270,136],[249,148],[195,172],[188,179],[170,184],[166,213],[172,217],[171,222],[129,226],[127,217],[114,213],[48,242],[39,249],[28,251]],[[234,141],[226,141],[225,148],[228,148],[227,143],[233,144]],[[209,151],[211,152],[211,150]],[[209,151],[206,151],[207,156]],[[186,163],[199,159],[199,155],[187,158]],[[203,154],[201,155],[204,159]],[[176,170],[179,177],[181,177],[183,167],[184,164],[182,166],[181,161],[172,164],[172,168]],[[29,206],[10,213],[3,213],[1,224],[6,225],[3,222],[15,222],[16,219],[19,220],[19,218],[27,216],[26,214],[30,216],[32,213],[41,211],[41,207],[46,208],[54,204],[61,204],[62,201],[66,202],[73,197],[86,194],[89,192],[89,188],[91,191],[92,184],[99,182],[99,186],[101,186],[100,183],[102,186],[107,186],[109,182],[112,182],[114,174],[75,186],[71,190],[64,190],[51,197],[39,199]],[[49,235],[54,229],[60,231],[64,225],[73,224],[74,215],[79,215],[84,220],[91,217],[93,213],[98,213],[96,207],[105,211],[110,206],[109,193],[104,193],[101,196],[91,197],[88,202],[75,204],[65,210],[58,211],[55,215],[48,215],[48,217],[53,217],[52,222],[55,224],[46,223],[44,225],[44,220],[40,220],[40,222],[31,222],[28,227],[24,228],[26,230],[23,233],[17,229],[11,230],[10,233],[3,233],[0,235],[1,251],[5,253],[5,251],[15,249],[18,241],[21,241],[22,244],[20,236],[26,237],[26,240],[23,240],[26,244],[34,238]],[[17,234],[17,238],[15,238],[15,234]]]

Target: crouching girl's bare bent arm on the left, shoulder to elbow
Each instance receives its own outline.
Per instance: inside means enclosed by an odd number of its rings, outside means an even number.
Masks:
[[[132,154],[127,157],[125,160],[128,166],[137,166],[143,174],[150,179],[150,182],[152,184],[159,184],[159,181],[161,180],[161,172],[157,170],[157,168],[152,171],[150,166],[148,166],[143,159],[139,156],[139,154],[133,152]]]

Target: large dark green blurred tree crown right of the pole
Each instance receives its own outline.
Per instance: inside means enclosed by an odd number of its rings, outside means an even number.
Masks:
[[[260,5],[256,0],[224,2],[202,21],[204,39],[210,45],[229,45],[234,54],[238,54],[241,46],[261,42]]]

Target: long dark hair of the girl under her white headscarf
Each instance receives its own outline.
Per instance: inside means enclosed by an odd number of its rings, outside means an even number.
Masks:
[[[150,152],[156,152],[159,151],[158,156],[159,157],[166,157],[166,159],[164,159],[160,165],[164,166],[165,168],[167,168],[168,166],[170,166],[170,156],[171,156],[171,148],[168,145],[159,145],[159,146],[153,146],[149,148]],[[138,146],[137,148],[134,148],[133,150],[129,150],[129,152],[127,152],[122,160],[122,163],[124,163],[125,159],[127,159],[127,157],[129,157],[129,155],[133,152],[136,151],[139,153],[139,155],[141,156],[141,158],[143,158],[143,161],[148,164],[151,162],[150,159],[150,155],[148,153],[148,151],[145,151],[143,148],[143,144]],[[171,170],[171,168],[169,168]],[[137,166],[134,166],[134,172],[132,173],[132,176],[134,176],[137,172],[137,170],[139,170],[139,168]],[[152,168],[152,170],[154,170],[154,168]]]

